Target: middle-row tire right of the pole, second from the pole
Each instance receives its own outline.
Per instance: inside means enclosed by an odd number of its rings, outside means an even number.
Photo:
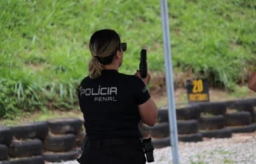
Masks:
[[[222,115],[213,117],[201,117],[198,119],[198,127],[201,130],[214,130],[224,128],[225,118]]]

